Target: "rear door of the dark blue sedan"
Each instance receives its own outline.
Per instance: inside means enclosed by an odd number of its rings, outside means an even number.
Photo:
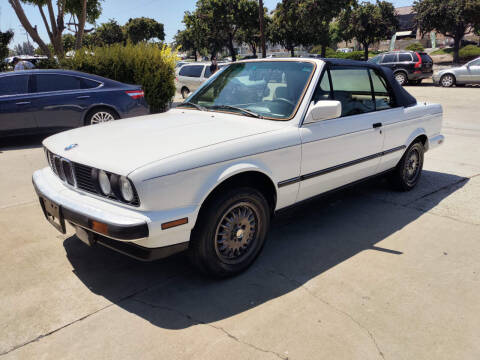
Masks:
[[[64,129],[81,125],[89,95],[82,89],[81,78],[63,74],[36,74],[35,120],[41,129]]]

